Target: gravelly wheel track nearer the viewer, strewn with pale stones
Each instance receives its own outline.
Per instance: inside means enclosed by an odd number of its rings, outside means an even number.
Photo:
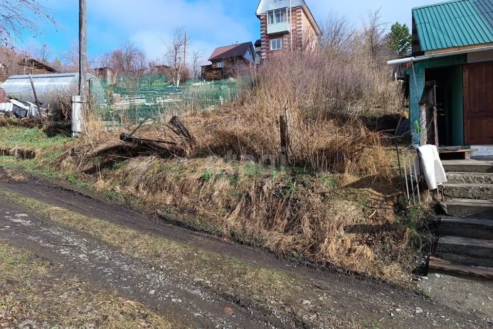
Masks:
[[[153,271],[130,255],[47,223],[6,200],[0,200],[0,209],[0,238],[35,250],[39,257],[61,265],[65,275],[75,275],[104,289],[116,289],[125,298],[170,311],[198,328],[294,327],[286,319],[282,323],[258,310],[250,313],[208,291],[197,293],[199,287],[194,285],[193,278],[181,279],[165,271]],[[234,313],[226,314],[224,307],[231,307]]]

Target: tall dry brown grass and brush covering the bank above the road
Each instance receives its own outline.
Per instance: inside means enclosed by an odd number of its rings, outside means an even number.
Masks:
[[[192,228],[352,271],[406,278],[415,232],[393,213],[398,190],[391,151],[365,125],[368,117],[401,112],[399,86],[388,68],[365,62],[356,47],[281,55],[252,74],[251,88],[240,88],[236,102],[181,116],[195,143],[156,123],[138,135],[176,145],[145,149],[120,141],[118,132],[103,132],[91,117],[82,138],[67,144],[61,168],[158,213],[177,208],[197,214],[198,220],[178,219]],[[285,106],[287,168],[278,166]]]

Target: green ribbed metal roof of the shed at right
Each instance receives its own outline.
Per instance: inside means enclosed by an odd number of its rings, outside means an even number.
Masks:
[[[412,10],[421,50],[493,42],[493,0],[456,0]]]

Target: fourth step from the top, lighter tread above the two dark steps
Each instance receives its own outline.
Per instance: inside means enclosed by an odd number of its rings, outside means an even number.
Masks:
[[[489,200],[450,199],[442,208],[448,216],[493,218],[493,202]]]

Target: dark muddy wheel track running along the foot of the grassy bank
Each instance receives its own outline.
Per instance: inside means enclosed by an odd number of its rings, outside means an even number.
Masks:
[[[345,313],[339,314],[343,319],[350,317],[350,313],[353,313],[353,309],[358,310],[358,312],[363,312],[361,315],[364,315],[365,313],[367,315],[372,315],[371,312],[375,312],[372,308],[378,309],[380,307],[382,309],[383,306],[388,305],[387,310],[389,310],[389,307],[392,307],[393,304],[402,302],[402,305],[411,308],[410,313],[413,313],[413,305],[419,305],[423,309],[429,309],[430,312],[432,310],[433,313],[431,319],[428,319],[429,326],[425,325],[427,321],[423,321],[423,319],[402,320],[404,321],[403,323],[399,323],[399,321],[396,322],[396,318],[392,320],[385,319],[384,323],[392,323],[392,326],[390,327],[396,327],[399,324],[404,324],[399,326],[402,328],[414,327],[413,325],[418,325],[418,327],[433,327],[437,325],[437,323],[431,323],[444,321],[444,315],[447,316],[447,319],[449,316],[453,316],[455,319],[453,321],[458,321],[463,324],[467,323],[467,325],[449,326],[452,325],[452,323],[448,322],[448,325],[442,324],[443,327],[491,327],[477,316],[458,313],[448,306],[430,301],[409,290],[399,288],[390,283],[361,276],[349,276],[344,272],[315,268],[295,261],[277,258],[274,254],[269,252],[248,246],[236,245],[225,242],[218,237],[192,232],[170,225],[165,218],[158,218],[156,220],[134,209],[105,203],[87,194],[59,186],[49,180],[31,179],[29,181],[0,182],[0,188],[5,188],[38,199],[47,204],[77,211],[87,216],[121,224],[144,233],[153,233],[172,241],[197,246],[201,249],[217,252],[219,254],[228,254],[249,263],[278,269],[302,277],[306,284],[311,286],[314,290],[327,291],[328,294],[331,294],[335,300],[338,301],[340,307],[343,307],[343,309],[347,308],[347,310],[344,309]],[[249,308],[255,307],[250,301],[238,299],[233,295],[222,293],[221,291],[216,291],[216,296],[220,297],[222,301],[236,305],[236,308],[239,307],[246,310],[247,316]],[[271,310],[266,307],[257,306],[256,311],[263,314],[264,317],[272,316]],[[434,315],[436,316],[435,318]],[[374,316],[372,317],[374,318]],[[295,327],[310,327],[305,324],[303,320],[300,320],[301,319],[290,319],[289,322],[291,322],[290,325]],[[266,320],[265,322],[267,323],[270,321]],[[276,321],[272,320],[270,323],[276,323]],[[445,324],[447,323],[445,322]],[[280,327],[290,327],[287,326],[286,322],[281,323],[280,325],[282,325]]]

